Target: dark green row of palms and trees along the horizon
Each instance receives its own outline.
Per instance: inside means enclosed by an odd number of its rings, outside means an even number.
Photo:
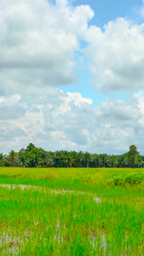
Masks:
[[[120,155],[90,154],[57,150],[45,151],[29,143],[19,152],[11,150],[9,154],[0,154],[0,166],[15,167],[144,167],[144,156],[141,156],[135,145],[130,146],[129,152]]]

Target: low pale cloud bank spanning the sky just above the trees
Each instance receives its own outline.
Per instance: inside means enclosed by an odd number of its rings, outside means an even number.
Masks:
[[[94,109],[90,99],[57,89],[49,96],[21,96],[16,103],[9,100],[9,106],[8,98],[3,99],[0,144],[6,153],[26,148],[30,142],[46,150],[107,154],[124,153],[135,144],[144,153],[143,91],[129,101],[109,98]]]

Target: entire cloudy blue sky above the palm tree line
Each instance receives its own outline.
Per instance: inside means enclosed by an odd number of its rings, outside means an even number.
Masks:
[[[144,2],[0,1],[0,152],[144,154]]]

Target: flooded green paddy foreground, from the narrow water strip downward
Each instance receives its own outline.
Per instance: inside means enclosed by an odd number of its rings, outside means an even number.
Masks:
[[[0,255],[144,255],[143,215],[89,191],[0,184]]]

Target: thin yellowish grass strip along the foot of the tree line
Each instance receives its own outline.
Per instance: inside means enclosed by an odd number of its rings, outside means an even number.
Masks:
[[[0,176],[31,180],[69,180],[78,178],[89,183],[101,183],[111,176],[143,173],[144,168],[20,168],[0,167]]]

